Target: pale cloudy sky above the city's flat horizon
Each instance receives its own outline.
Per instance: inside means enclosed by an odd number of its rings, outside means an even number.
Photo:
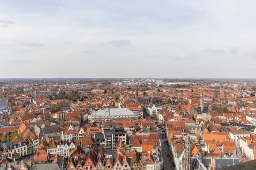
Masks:
[[[256,78],[255,0],[0,0],[0,78]]]

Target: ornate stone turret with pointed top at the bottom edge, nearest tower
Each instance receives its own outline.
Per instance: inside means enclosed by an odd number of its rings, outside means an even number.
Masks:
[[[183,170],[191,170],[191,140],[190,140],[189,134],[186,139],[185,159],[183,162]]]

